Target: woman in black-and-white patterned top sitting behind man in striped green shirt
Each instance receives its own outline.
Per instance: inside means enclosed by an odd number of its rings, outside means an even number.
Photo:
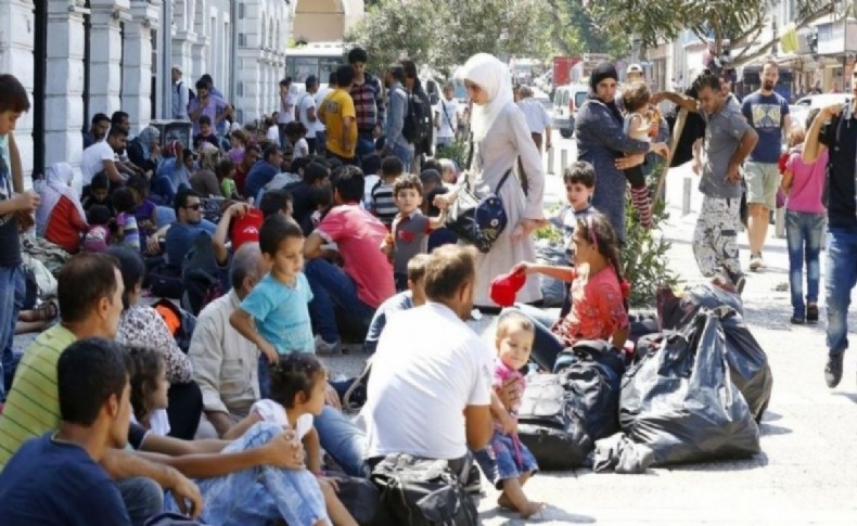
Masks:
[[[121,247],[111,247],[106,254],[119,261],[119,271],[125,283],[123,310],[116,342],[121,345],[151,347],[157,350],[167,364],[170,383],[169,436],[193,439],[202,416],[203,399],[200,386],[193,381],[193,369],[188,355],[181,351],[167,323],[152,307],[137,305],[143,286],[145,264],[139,253]]]

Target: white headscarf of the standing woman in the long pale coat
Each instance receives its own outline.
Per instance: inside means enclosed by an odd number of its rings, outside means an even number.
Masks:
[[[470,119],[473,140],[481,141],[507,104],[514,104],[509,67],[494,55],[476,53],[456,76],[461,80],[470,80],[488,93],[486,104],[473,104]]]

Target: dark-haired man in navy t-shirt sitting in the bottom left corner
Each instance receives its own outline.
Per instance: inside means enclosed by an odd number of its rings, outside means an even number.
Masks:
[[[103,338],[78,341],[56,363],[62,423],[25,442],[0,476],[0,524],[111,524],[131,519],[99,462],[123,448],[131,415],[123,350]]]

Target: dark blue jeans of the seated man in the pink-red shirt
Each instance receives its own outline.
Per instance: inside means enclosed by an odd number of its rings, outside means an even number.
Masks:
[[[357,284],[340,267],[327,259],[315,258],[306,262],[304,274],[312,291],[309,317],[324,342],[333,344],[340,341],[334,306],[340,307],[349,318],[366,320],[367,324],[372,319],[375,309],[360,300],[357,296]]]

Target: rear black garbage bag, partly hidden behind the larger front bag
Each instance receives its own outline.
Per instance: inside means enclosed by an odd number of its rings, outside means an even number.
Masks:
[[[750,332],[743,318],[741,299],[714,285],[689,288],[680,298],[664,292],[658,294],[658,316],[665,330],[692,323],[703,309],[714,311],[721,321],[726,336],[726,359],[732,382],[744,395],[756,421],[762,421],[773,389],[773,374],[768,356]],[[638,356],[640,349],[638,348]]]

